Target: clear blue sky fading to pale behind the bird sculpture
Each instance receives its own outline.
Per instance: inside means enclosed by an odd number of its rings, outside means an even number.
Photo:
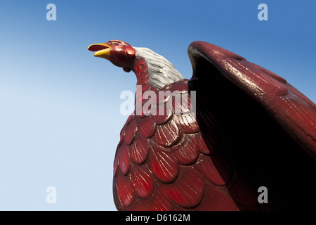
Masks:
[[[46,19],[49,3],[56,21]],[[261,3],[267,21],[257,19]],[[312,0],[1,1],[0,210],[116,210],[119,96],[135,91],[135,75],[94,58],[90,44],[148,47],[190,78],[187,48],[207,41],[315,102],[315,10]]]

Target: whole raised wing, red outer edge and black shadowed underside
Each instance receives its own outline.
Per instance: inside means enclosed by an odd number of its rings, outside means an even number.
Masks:
[[[204,41],[188,48],[197,122],[240,210],[308,208],[315,202],[316,106],[285,79]],[[210,166],[208,169],[212,168]],[[226,179],[229,179],[227,177]],[[269,201],[258,204],[258,188]]]

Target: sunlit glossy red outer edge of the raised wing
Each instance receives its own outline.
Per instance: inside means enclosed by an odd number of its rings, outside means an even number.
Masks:
[[[188,53],[193,79],[207,79],[199,62],[207,60],[221,75],[255,99],[308,154],[316,160],[316,105],[291,84],[243,57],[204,41],[195,41]],[[205,76],[202,78],[202,76]]]

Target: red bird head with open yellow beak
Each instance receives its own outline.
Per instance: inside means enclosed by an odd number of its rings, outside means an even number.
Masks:
[[[130,72],[135,60],[135,49],[124,41],[111,40],[107,43],[91,44],[88,48],[96,57],[110,60],[114,65]]]

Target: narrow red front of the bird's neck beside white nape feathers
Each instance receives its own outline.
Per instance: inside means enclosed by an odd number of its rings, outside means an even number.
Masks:
[[[135,58],[133,65],[133,72],[137,78],[136,94],[135,94],[135,107],[142,103],[142,94],[145,91],[158,91],[158,89],[149,82],[148,64],[145,58],[138,56]]]

